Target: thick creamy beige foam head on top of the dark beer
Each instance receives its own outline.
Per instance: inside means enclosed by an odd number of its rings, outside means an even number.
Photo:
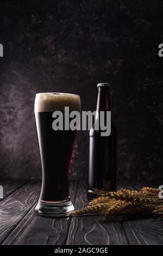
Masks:
[[[37,93],[35,97],[35,112],[64,111],[80,112],[80,96],[70,93]]]

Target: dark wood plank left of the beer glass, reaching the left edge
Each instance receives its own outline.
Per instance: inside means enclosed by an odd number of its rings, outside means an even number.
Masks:
[[[40,182],[29,181],[0,202],[0,243],[36,203],[40,193]]]

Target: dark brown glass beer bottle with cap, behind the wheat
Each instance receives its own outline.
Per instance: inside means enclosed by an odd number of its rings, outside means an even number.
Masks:
[[[108,83],[99,83],[97,111],[111,111]],[[89,132],[89,171],[87,199],[96,197],[93,188],[105,191],[116,191],[116,151],[117,130],[111,121],[109,136],[101,136],[101,130],[95,130],[95,125]]]

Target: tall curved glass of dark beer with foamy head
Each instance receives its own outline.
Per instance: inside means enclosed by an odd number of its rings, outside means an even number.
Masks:
[[[80,97],[67,93],[38,93],[35,120],[42,164],[42,187],[35,211],[41,216],[67,216],[74,210],[68,175],[77,130],[53,130],[53,112],[65,107],[80,111]],[[63,118],[64,120],[64,118]],[[64,126],[63,126],[64,127]]]

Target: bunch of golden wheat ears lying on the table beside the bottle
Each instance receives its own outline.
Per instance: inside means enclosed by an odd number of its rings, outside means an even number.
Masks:
[[[72,216],[99,214],[105,220],[115,220],[121,216],[163,215],[163,200],[158,197],[157,188],[143,187],[140,191],[121,189],[117,192],[94,190],[98,197],[84,209],[71,212]]]

